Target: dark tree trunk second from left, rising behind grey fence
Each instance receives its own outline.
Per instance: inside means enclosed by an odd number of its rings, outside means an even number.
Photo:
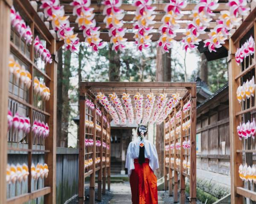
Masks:
[[[63,86],[62,86],[62,98],[63,98],[63,110],[62,110],[62,133],[61,133],[61,147],[67,147],[68,139],[68,126],[70,116],[70,104],[68,91],[70,89],[70,61],[71,52],[64,52],[64,68],[63,68]]]

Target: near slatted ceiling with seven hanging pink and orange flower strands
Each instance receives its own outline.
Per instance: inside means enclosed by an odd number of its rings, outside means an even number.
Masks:
[[[243,16],[250,11],[247,0],[41,0],[40,8],[57,32],[59,40],[70,51],[86,42],[92,51],[111,42],[113,50],[124,51],[126,42],[134,41],[137,50],[149,48],[152,41],[162,52],[169,52],[176,41],[184,50],[193,50],[200,41],[210,52],[228,40]]]

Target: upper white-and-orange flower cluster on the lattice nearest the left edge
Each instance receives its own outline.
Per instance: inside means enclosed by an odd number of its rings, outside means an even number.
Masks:
[[[32,77],[29,71],[21,65],[12,55],[9,56],[9,72],[12,73],[15,77],[16,82],[21,82],[21,85],[24,85],[27,89],[30,88]]]

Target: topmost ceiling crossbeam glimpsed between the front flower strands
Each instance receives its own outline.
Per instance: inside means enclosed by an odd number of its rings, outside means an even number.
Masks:
[[[61,4],[64,5],[64,9],[67,13],[72,13],[73,12],[73,6],[70,6],[69,4]],[[155,11],[163,11],[163,9],[166,7],[167,3],[158,3],[158,4],[152,4],[152,6],[155,6],[156,9]],[[196,3],[189,3],[185,8],[181,9],[182,11],[192,11],[195,6],[197,4]],[[98,5],[98,4],[91,4],[90,5],[91,8],[94,8],[94,12],[102,12],[104,5]],[[122,6],[120,6],[121,9],[123,9],[124,11],[136,11],[136,6],[133,6],[132,4],[122,4]],[[223,11],[223,10],[228,10],[229,7],[226,5],[226,3],[220,3],[218,8],[214,11]]]

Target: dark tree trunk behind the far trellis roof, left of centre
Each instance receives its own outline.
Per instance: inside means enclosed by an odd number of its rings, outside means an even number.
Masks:
[[[120,81],[120,56],[119,52],[111,50],[111,47],[108,51],[109,58],[109,69],[108,77],[110,82],[119,82]]]

